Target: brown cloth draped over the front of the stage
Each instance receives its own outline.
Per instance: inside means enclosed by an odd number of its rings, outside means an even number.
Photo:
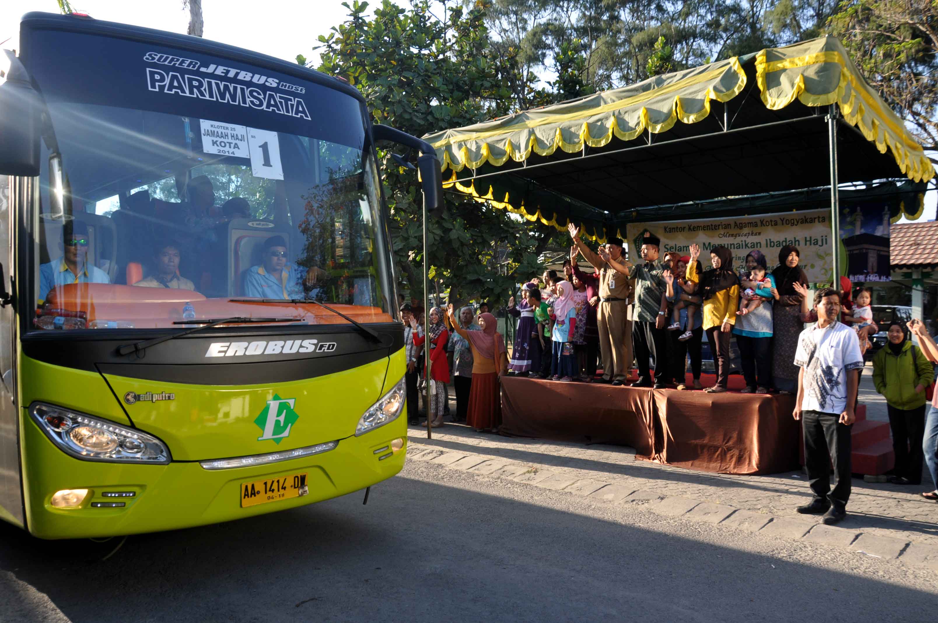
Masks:
[[[704,387],[715,381],[712,374],[701,380]],[[730,387],[745,386],[741,377],[731,376]],[[799,425],[792,418],[793,407],[794,396],[507,376],[502,379],[501,431],[625,445],[643,459],[708,472],[774,474],[798,468]]]

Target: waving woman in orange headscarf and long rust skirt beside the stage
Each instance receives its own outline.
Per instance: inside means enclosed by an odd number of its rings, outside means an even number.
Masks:
[[[481,331],[467,331],[456,322],[452,305],[448,308],[453,330],[459,333],[472,348],[472,388],[469,393],[469,409],[466,423],[482,431],[498,432],[502,424],[502,398],[499,378],[508,371],[508,357],[502,336],[495,329],[498,321],[491,313],[478,317]]]

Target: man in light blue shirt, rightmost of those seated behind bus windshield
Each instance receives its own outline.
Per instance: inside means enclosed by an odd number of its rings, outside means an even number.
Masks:
[[[325,271],[315,266],[306,273],[302,268],[287,264],[287,242],[283,236],[271,236],[264,242],[264,264],[251,266],[244,279],[244,296],[257,298],[315,298],[319,289],[314,286],[325,277]],[[306,286],[306,287],[304,287]]]

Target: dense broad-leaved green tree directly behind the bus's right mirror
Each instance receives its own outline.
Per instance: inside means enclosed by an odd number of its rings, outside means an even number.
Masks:
[[[445,6],[434,15],[430,0],[411,8],[386,0],[366,17],[355,0],[348,19],[319,38],[319,70],[354,84],[375,123],[416,136],[477,123],[511,111],[516,52],[492,46],[486,2]],[[306,64],[302,55],[297,61]],[[391,236],[412,296],[422,296],[422,194],[416,172],[398,166],[390,152],[383,179],[391,211]],[[455,298],[506,299],[517,281],[537,272],[537,253],[557,232],[523,223],[505,210],[446,194],[439,218],[428,222],[432,290],[453,288]]]

